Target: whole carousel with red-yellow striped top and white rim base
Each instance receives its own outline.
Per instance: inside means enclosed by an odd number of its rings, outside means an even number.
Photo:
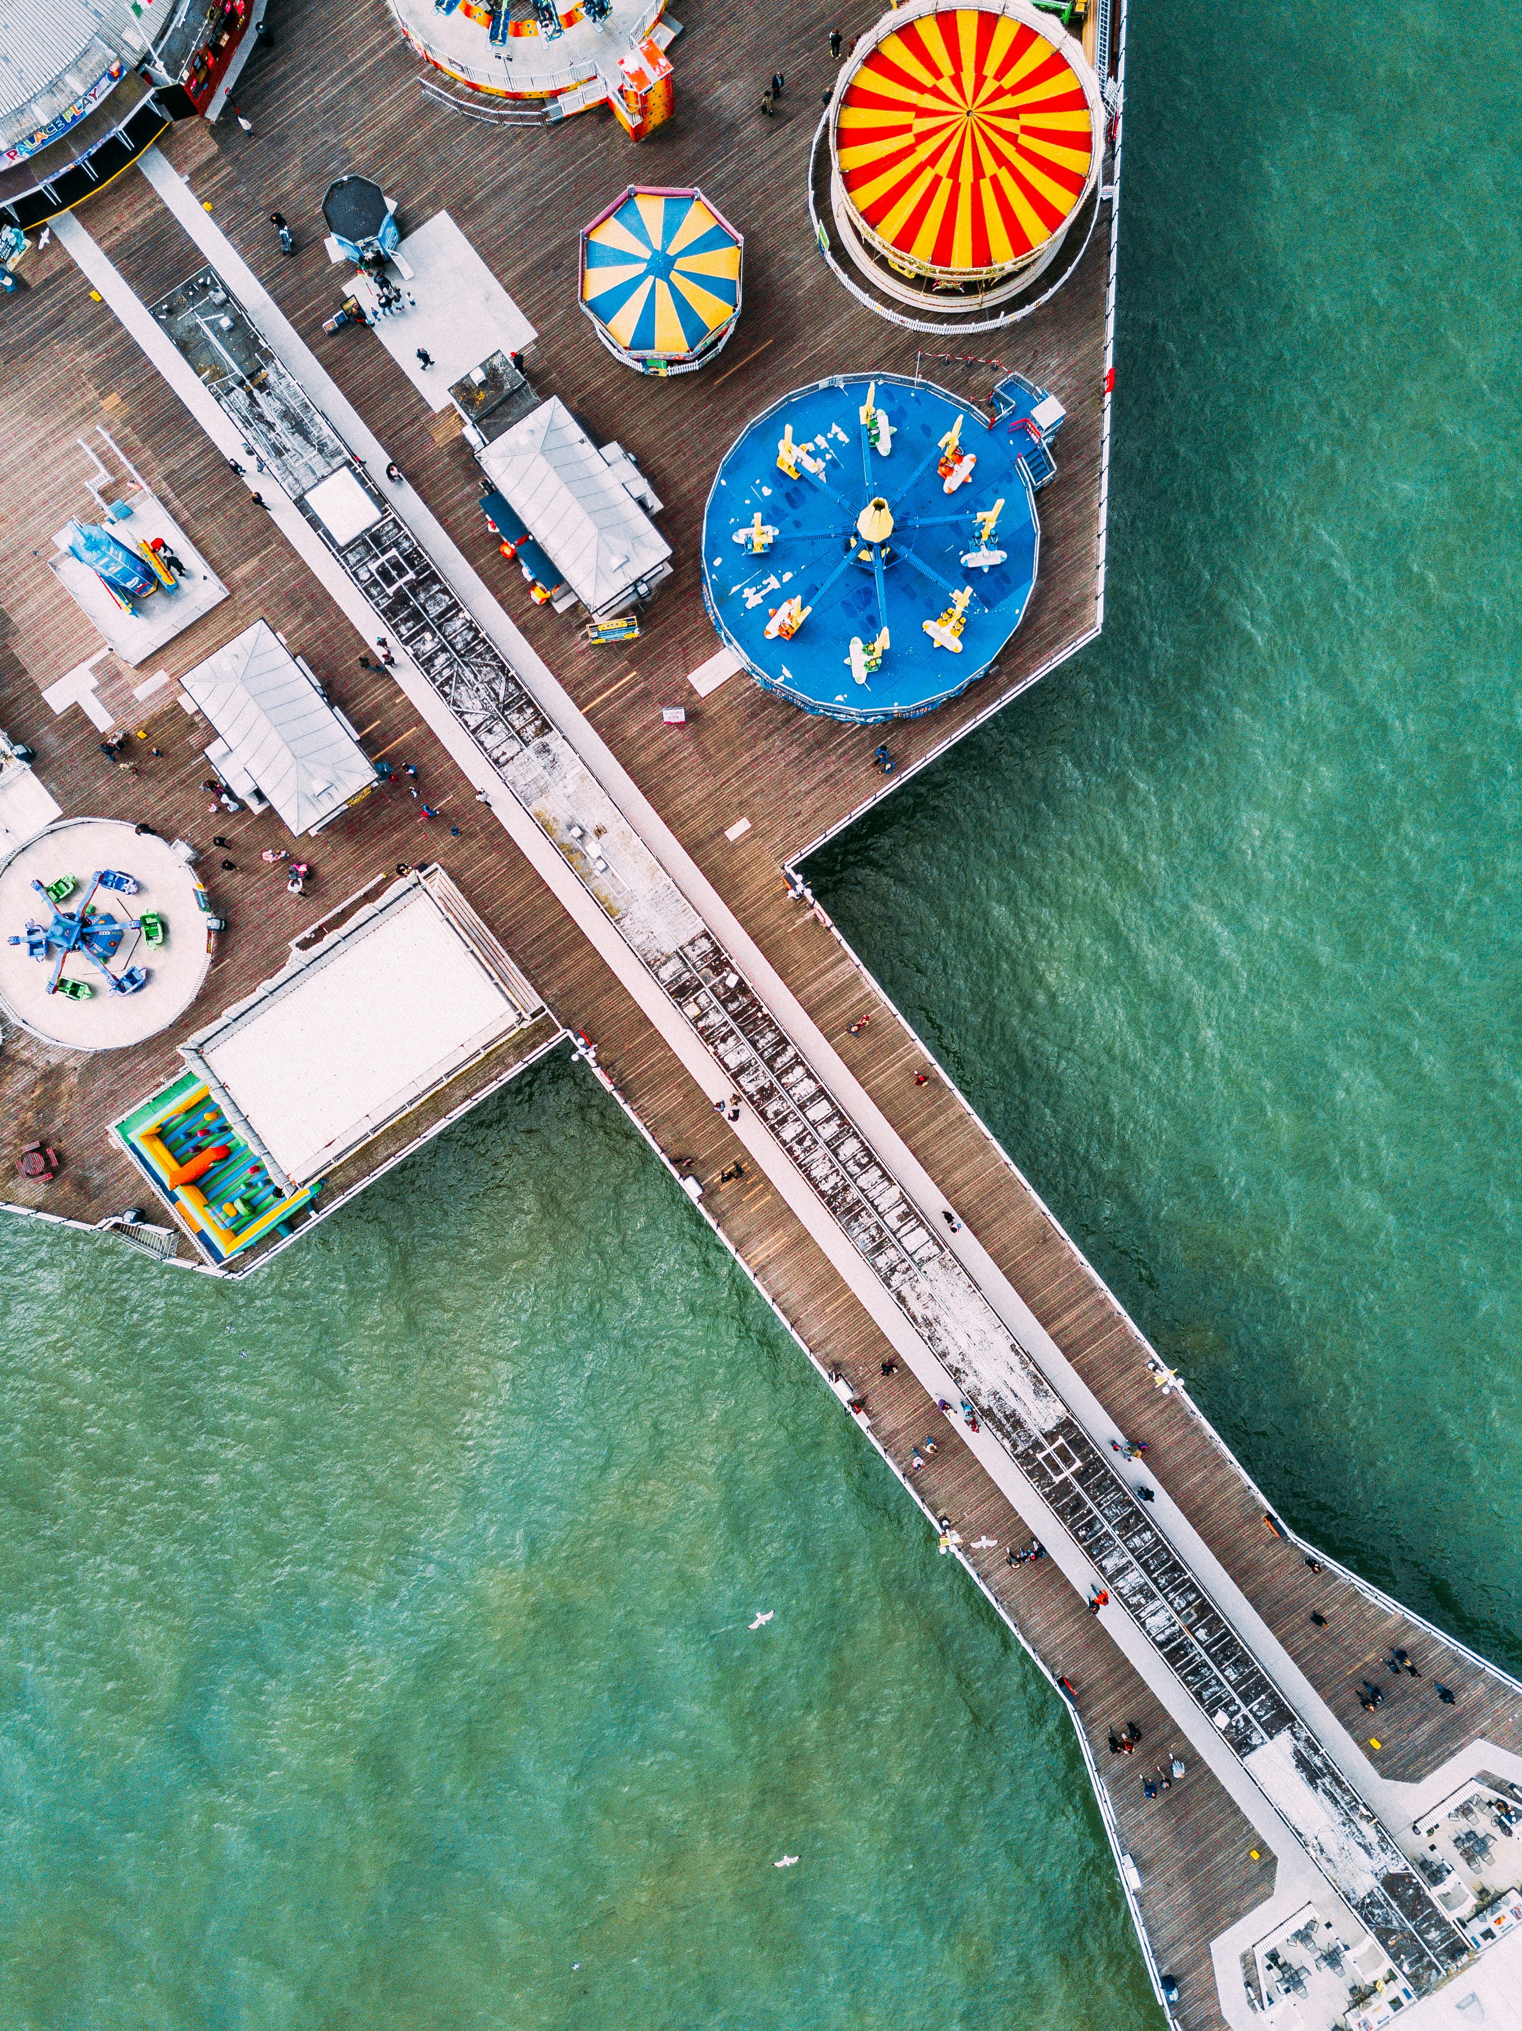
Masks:
[[[1103,122],[1081,43],[1032,0],[906,0],[825,116],[839,246],[890,303],[1018,315],[1087,244]]]

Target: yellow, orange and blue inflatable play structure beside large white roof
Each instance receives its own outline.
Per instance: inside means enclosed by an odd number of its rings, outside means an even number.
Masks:
[[[319,1192],[317,1184],[287,1192],[195,1072],[126,1115],[114,1133],[217,1267],[287,1233]]]

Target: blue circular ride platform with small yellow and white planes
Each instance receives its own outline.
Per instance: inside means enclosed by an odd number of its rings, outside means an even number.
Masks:
[[[1028,437],[943,388],[845,374],[730,447],[703,599],[758,684],[831,719],[914,719],[988,670],[1036,583]]]

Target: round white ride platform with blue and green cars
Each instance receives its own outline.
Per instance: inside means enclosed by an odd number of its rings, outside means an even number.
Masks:
[[[156,916],[163,942],[150,944],[144,932],[124,930],[104,967],[83,951],[69,953],[61,979],[91,989],[89,997],[75,1001],[65,993],[47,993],[59,946],[53,944],[45,959],[30,959],[26,926],[49,926],[55,908],[77,914],[98,869],[128,875],[136,894],[98,888],[93,922],[112,916],[116,924],[128,924],[144,914]],[[75,888],[57,904],[33,888],[33,881],[53,888],[65,875]],[[51,825],[0,863],[0,1007],[33,1036],[69,1050],[122,1050],[156,1036],[195,1001],[211,965],[197,888],[191,869],[163,839],[138,837],[118,818],[61,818]],[[12,944],[14,936],[22,942]],[[100,944],[112,944],[110,930]],[[128,967],[142,967],[146,983],[136,993],[114,993],[108,975],[120,977]]]

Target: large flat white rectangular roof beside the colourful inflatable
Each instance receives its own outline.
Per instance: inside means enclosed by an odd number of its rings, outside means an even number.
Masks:
[[[437,873],[392,883],[187,1046],[293,1182],[329,1170],[538,1005],[506,955],[471,942],[467,912],[447,908],[455,896]]]

